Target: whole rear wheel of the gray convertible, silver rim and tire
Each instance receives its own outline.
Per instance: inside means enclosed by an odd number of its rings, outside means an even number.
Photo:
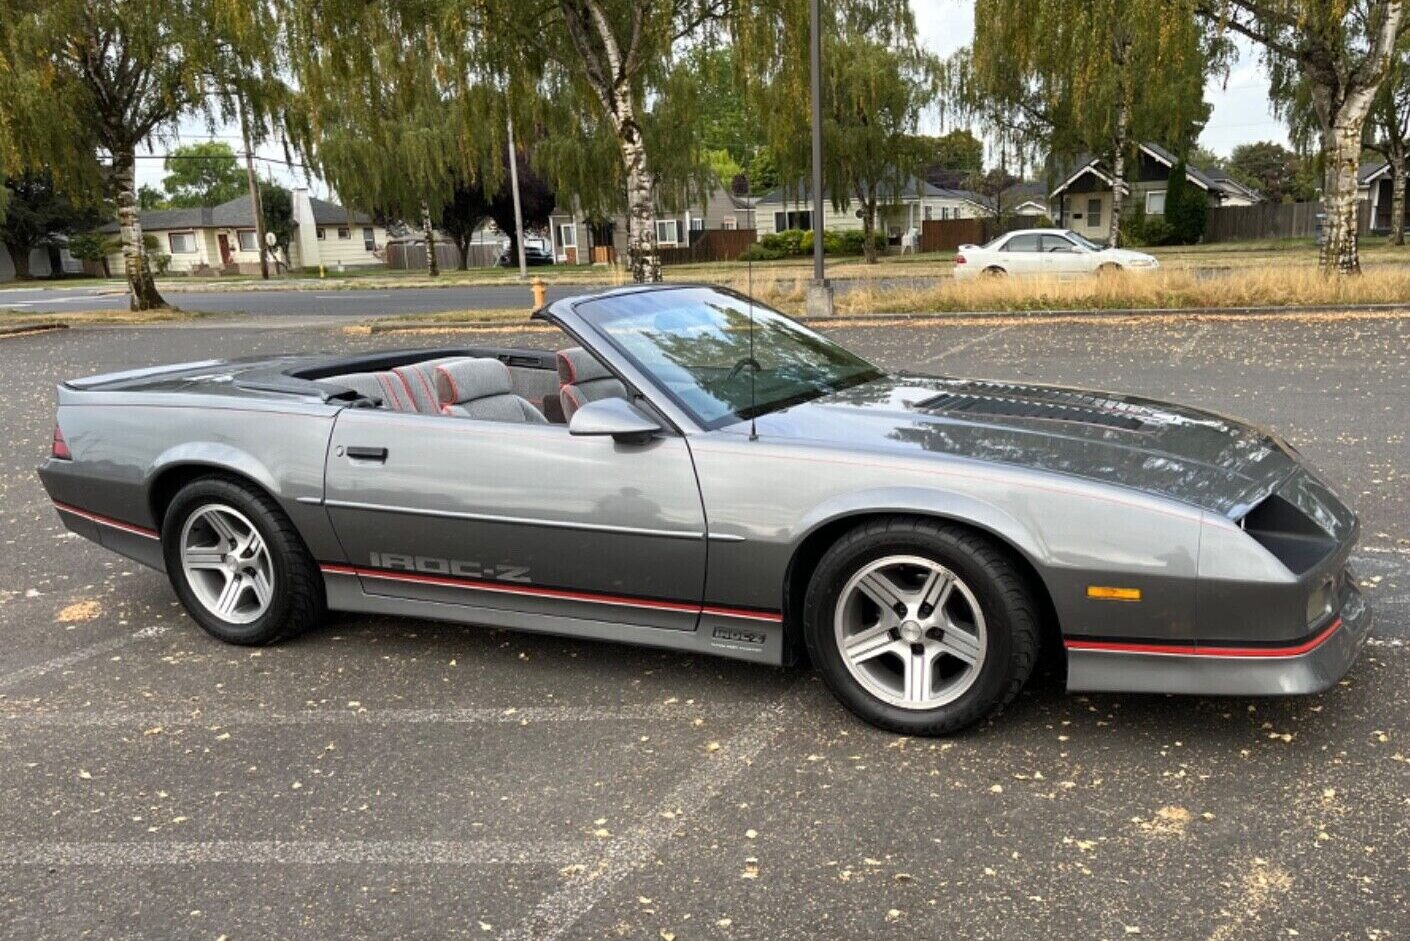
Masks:
[[[227,643],[272,643],[327,609],[293,523],[247,484],[204,477],[183,487],[162,519],[162,552],[186,611]]]

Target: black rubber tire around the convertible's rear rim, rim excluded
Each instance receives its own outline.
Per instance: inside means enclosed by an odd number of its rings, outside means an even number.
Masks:
[[[209,611],[196,597],[182,567],[182,530],[192,514],[212,504],[240,511],[259,532],[269,552],[274,590],[269,607],[248,624],[233,624]],[[316,626],[327,614],[323,576],[289,518],[268,495],[228,477],[202,477],[186,484],[162,518],[162,554],[172,588],[186,612],[226,643],[261,646]]]

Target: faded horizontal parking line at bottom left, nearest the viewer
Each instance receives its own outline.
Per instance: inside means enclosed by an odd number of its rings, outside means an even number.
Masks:
[[[217,839],[210,842],[0,844],[0,866],[450,865],[561,866],[589,858],[585,844],[499,839]]]

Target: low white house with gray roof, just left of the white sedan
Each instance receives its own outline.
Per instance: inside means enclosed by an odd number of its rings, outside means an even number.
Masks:
[[[785,231],[788,229],[812,229],[812,199],[807,185],[774,189],[759,199],[756,205],[759,234]],[[860,230],[860,209],[853,200],[836,209],[832,195],[825,193],[822,224],[828,231]],[[967,189],[945,189],[916,176],[901,186],[888,205],[877,209],[877,231],[895,238],[909,229],[919,229],[928,219],[976,219],[993,216],[994,209],[986,196]]]

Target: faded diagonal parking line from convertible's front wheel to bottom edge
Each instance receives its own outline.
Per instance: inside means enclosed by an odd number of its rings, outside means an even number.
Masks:
[[[647,865],[687,817],[709,804],[759,758],[783,729],[784,715],[798,705],[804,688],[794,683],[774,703],[760,707],[753,722],[711,755],[705,770],[687,775],[640,827],[609,841],[596,868],[543,899],[503,935],[506,941],[554,941],[570,931],[619,882]]]

